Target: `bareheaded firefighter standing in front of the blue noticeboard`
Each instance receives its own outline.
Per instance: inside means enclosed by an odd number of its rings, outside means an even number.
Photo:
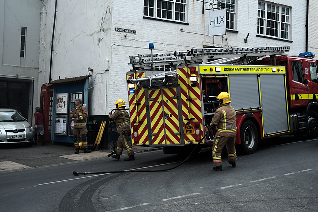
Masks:
[[[75,99],[75,108],[71,111],[70,117],[74,118],[73,142],[75,154],[79,153],[79,135],[81,136],[82,147],[84,153],[91,152],[87,143],[87,127],[86,118],[88,117],[87,109],[81,104],[81,99]]]

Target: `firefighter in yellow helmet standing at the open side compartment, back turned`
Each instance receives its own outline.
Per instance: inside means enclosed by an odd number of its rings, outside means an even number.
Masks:
[[[236,126],[236,112],[230,105],[231,97],[227,92],[221,92],[217,99],[219,106],[215,111],[215,115],[210,123],[211,127],[217,127],[218,131],[215,135],[212,146],[213,170],[222,171],[221,152],[226,145],[228,152],[228,161],[232,167],[235,167],[237,160],[237,153],[235,150],[235,138],[237,134]]]

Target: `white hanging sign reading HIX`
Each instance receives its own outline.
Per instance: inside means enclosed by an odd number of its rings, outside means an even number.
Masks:
[[[220,9],[210,11],[209,15],[209,36],[226,34],[227,10]]]

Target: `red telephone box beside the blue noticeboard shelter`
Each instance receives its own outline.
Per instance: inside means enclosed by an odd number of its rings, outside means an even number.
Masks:
[[[40,108],[44,117],[44,141],[51,142],[53,85],[43,84],[40,95]]]

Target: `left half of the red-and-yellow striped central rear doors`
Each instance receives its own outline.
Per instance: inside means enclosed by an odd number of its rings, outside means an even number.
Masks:
[[[158,89],[149,91],[149,98],[153,99],[153,101],[149,102],[151,133],[153,135],[152,143],[161,144],[165,139],[161,90]]]

